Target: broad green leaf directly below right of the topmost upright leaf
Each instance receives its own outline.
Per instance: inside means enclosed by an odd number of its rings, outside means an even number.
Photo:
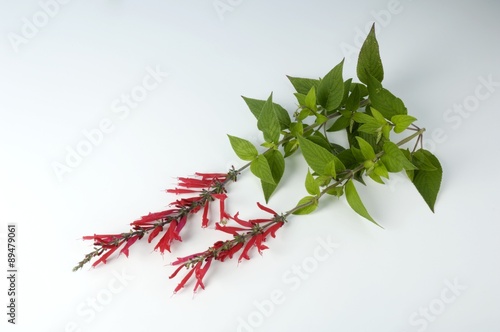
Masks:
[[[408,113],[403,101],[394,96],[389,90],[384,89],[380,81],[373,76],[369,76],[368,80],[371,105],[386,119],[391,119],[394,115],[406,115]]]

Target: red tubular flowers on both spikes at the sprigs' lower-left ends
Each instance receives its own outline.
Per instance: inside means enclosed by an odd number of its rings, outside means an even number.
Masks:
[[[167,210],[149,213],[133,221],[130,223],[132,230],[128,233],[84,236],[84,240],[93,240],[96,248],[75,269],[81,268],[83,264],[96,256],[100,257],[92,264],[93,267],[100,263],[106,264],[106,260],[119,248],[122,248],[120,254],[123,253],[128,257],[130,246],[146,234],[149,234],[147,239],[151,243],[163,232],[154,249],[159,250],[162,254],[165,251],[170,252],[173,241],[182,241],[180,233],[186,225],[189,215],[203,209],[202,227],[207,227],[210,203],[218,200],[220,219],[215,224],[215,229],[231,234],[233,239],[217,241],[206,251],[178,258],[172,263],[172,265],[178,267],[170,276],[170,278],[174,278],[183,268],[189,270],[175,288],[174,293],[184,288],[193,276],[196,280],[194,291],[196,292],[200,287],[205,289],[203,279],[212,261],[223,262],[226,259],[232,259],[238,252],[241,252],[238,258],[238,263],[240,263],[244,259],[250,259],[249,252],[254,247],[262,255],[262,252],[268,249],[264,244],[266,238],[269,235],[275,237],[276,231],[285,222],[284,216],[279,216],[274,210],[259,203],[257,203],[259,209],[271,216],[243,220],[239,217],[239,212],[233,216],[229,215],[225,207],[227,195],[224,186],[228,179],[235,180],[235,177],[232,176],[234,174],[232,175],[230,171],[228,174],[196,173],[196,177],[193,178],[179,178],[178,186],[174,189],[167,189],[167,192],[178,195],[196,195],[178,199],[171,203],[170,208]],[[233,221],[234,225],[227,225],[228,221]]]

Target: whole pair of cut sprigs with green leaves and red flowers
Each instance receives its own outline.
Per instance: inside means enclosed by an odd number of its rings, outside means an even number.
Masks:
[[[443,170],[437,157],[423,148],[425,129],[415,125],[417,119],[408,114],[403,101],[382,85],[384,69],[374,26],[360,50],[356,67],[360,82],[352,78],[344,80],[343,66],[342,60],[318,79],[288,76],[297,100],[293,120],[285,108],[273,101],[272,93],[266,100],[243,97],[256,118],[257,129],[262,132],[264,149],[244,138],[228,135],[234,152],[245,161],[243,166],[227,173],[196,173],[194,177],[179,178],[178,186],[167,192],[188,195],[187,198],[179,198],[167,210],[132,222],[128,232],[85,236],[85,240],[94,241],[94,250],[74,270],[94,258],[97,260],[92,266],[106,263],[114,253],[128,256],[129,248],[146,236],[152,242],[162,234],[155,250],[162,254],[170,252],[174,241],[182,241],[181,230],[191,215],[202,212],[202,227],[209,225],[209,209],[214,201],[218,201],[220,212],[215,229],[232,235],[232,239],[218,241],[205,251],[173,262],[178,267],[170,278],[183,268],[188,270],[174,292],[193,277],[194,290],[204,288],[204,278],[213,261],[223,262],[239,252],[238,261],[247,260],[252,248],[262,253],[267,249],[264,243],[268,237],[274,237],[292,215],[312,213],[320,201],[322,204],[333,201],[326,196],[345,196],[356,213],[379,225],[356,189],[355,183],[365,185],[367,178],[385,184],[390,173],[404,173],[434,211]],[[393,136],[405,133],[408,136],[397,143],[392,141]],[[345,139],[339,139],[339,134]],[[414,139],[411,150],[404,147]],[[347,144],[340,143],[343,141]],[[286,158],[292,155],[302,156],[308,166],[304,181],[308,195],[282,214],[257,203],[266,213],[261,219],[243,220],[239,213],[227,212],[226,187],[230,182],[249,169],[260,180],[268,203],[282,181]],[[290,197],[290,201],[297,198]]]

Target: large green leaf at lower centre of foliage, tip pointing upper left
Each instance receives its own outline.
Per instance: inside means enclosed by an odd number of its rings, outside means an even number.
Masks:
[[[319,175],[328,175],[326,174],[326,168],[330,162],[335,164],[337,170],[345,169],[342,162],[324,147],[313,143],[302,136],[298,136],[297,139],[299,141],[304,159],[314,172]]]

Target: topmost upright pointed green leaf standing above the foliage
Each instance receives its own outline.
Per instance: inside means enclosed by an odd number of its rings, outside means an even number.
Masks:
[[[363,46],[361,46],[356,71],[359,80],[365,84],[368,84],[369,75],[375,77],[379,82],[384,79],[384,68],[380,59],[377,38],[375,37],[375,24],[373,24]]]

